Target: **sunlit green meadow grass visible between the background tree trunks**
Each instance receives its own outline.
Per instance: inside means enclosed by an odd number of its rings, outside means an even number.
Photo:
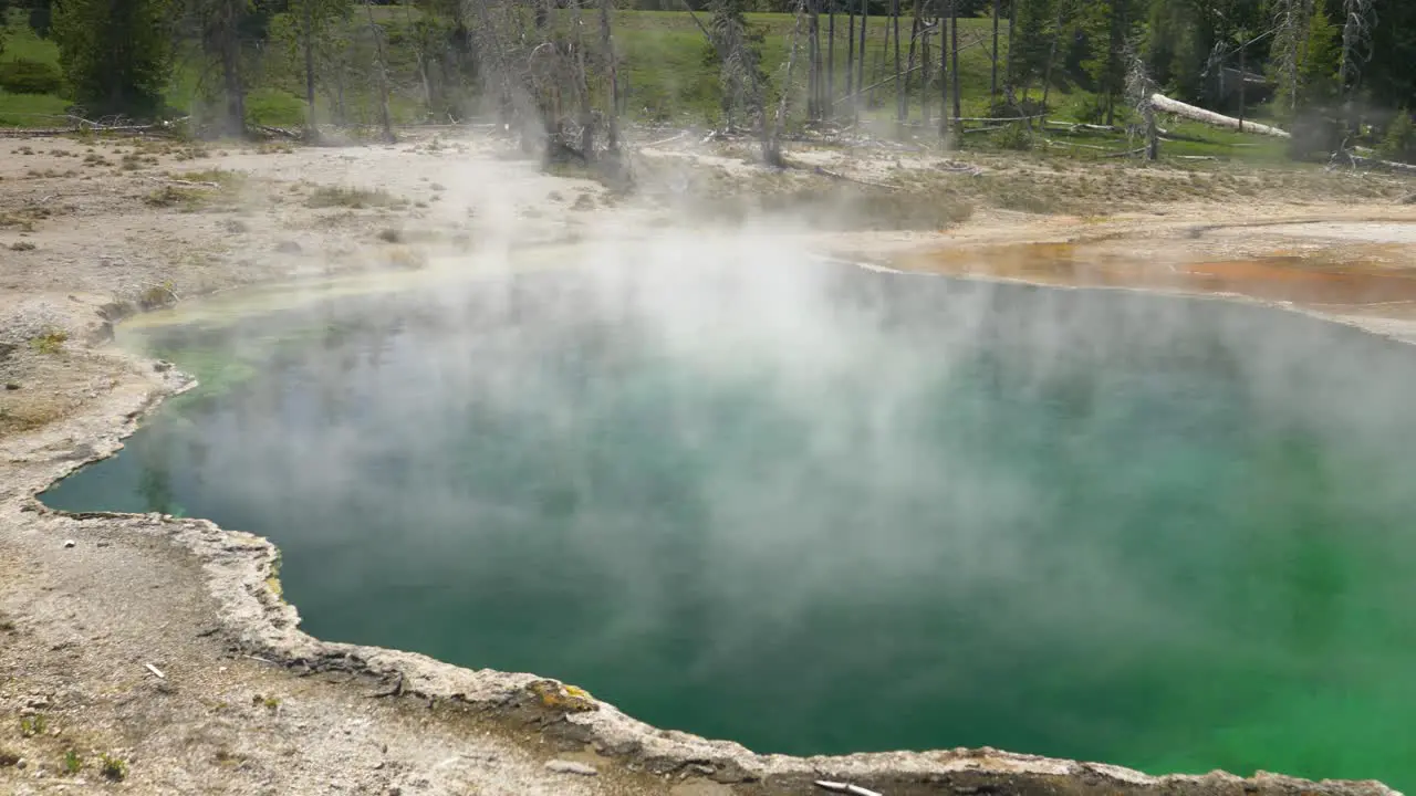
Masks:
[[[561,30],[568,30],[569,11],[555,11],[552,24]],[[585,11],[586,23],[596,21],[590,10]],[[396,123],[413,122],[423,116],[423,109],[418,101],[416,59],[411,47],[404,45],[408,40],[409,21],[419,18],[415,8],[401,6],[379,6],[374,8],[374,16],[381,25],[387,27],[389,41],[395,45],[388,51],[389,78],[398,89],[389,99],[391,113]],[[707,14],[698,14],[700,20],[708,23]],[[58,48],[52,41],[40,40],[17,16],[10,20],[6,37],[6,50],[0,54],[0,61],[25,58],[47,64],[58,64]],[[530,25],[530,16],[525,20]],[[780,96],[782,82],[786,72],[786,61],[792,50],[796,17],[793,14],[748,14],[748,23],[763,34],[762,41],[762,69],[769,79],[769,112],[775,112],[776,101]],[[850,27],[847,17],[838,14],[835,18],[834,50],[830,47],[828,17],[821,17],[823,62],[830,62],[834,52],[835,68],[831,71],[834,82],[834,96],[838,98],[837,112],[841,119],[852,115],[852,105],[845,99],[847,93],[847,65],[845,57],[850,50]],[[857,18],[857,25],[860,18]],[[364,14],[355,14],[348,21],[351,47],[355,50],[354,59],[370,59],[371,40]],[[901,33],[909,37],[909,18],[901,20]],[[886,81],[893,71],[893,52],[886,47],[888,28],[893,25],[888,17],[871,17],[867,21],[865,45],[865,84],[872,85]],[[964,116],[987,116],[990,103],[990,47],[993,37],[993,23],[988,18],[960,20],[959,42],[959,82],[963,89],[961,110]],[[593,28],[590,31],[595,33]],[[708,58],[708,45],[702,31],[687,11],[616,11],[615,34],[620,57],[622,91],[624,105],[632,120],[663,122],[673,125],[718,125],[721,122],[721,88],[716,67]],[[858,42],[860,28],[855,30]],[[908,65],[908,41],[902,48],[902,61]],[[1007,47],[1007,31],[1004,30],[1001,45]],[[365,52],[368,51],[368,52]],[[916,71],[909,75],[909,122],[906,133],[919,136],[922,140],[933,137],[933,130],[923,127],[920,99],[927,96],[932,119],[937,122],[940,109],[939,74],[939,35],[930,35],[930,84],[923,85],[923,72]],[[1000,58],[1007,54],[1001,52]],[[797,50],[797,62],[792,75],[792,118],[789,123],[803,120],[806,108],[806,34],[801,33]],[[169,106],[187,112],[200,109],[198,75],[201,71],[201,57],[194,48],[184,47],[178,54],[177,67],[173,74],[171,88],[167,92]],[[362,61],[361,61],[362,62]],[[299,65],[289,61],[287,54],[279,48],[266,48],[263,62],[258,69],[262,75],[261,85],[252,88],[246,96],[246,115],[251,122],[278,127],[297,127],[304,122],[306,105],[303,99],[303,82]],[[365,79],[367,78],[367,79]],[[592,75],[600,81],[595,88],[603,91],[603,75]],[[850,81],[854,84],[854,78]],[[354,123],[377,125],[377,96],[372,89],[371,75],[351,75],[346,93],[346,118]],[[860,89],[860,86],[854,86]],[[878,85],[872,91],[857,98],[862,123],[877,136],[891,136],[895,133],[896,86],[892,81]],[[1032,98],[1039,98],[1041,92],[1034,88]],[[321,92],[317,99],[316,115],[319,119],[334,118],[329,98]],[[1052,118],[1056,120],[1080,120],[1086,116],[1095,96],[1076,86],[1054,86],[1049,95]],[[0,92],[0,126],[55,126],[62,123],[55,119],[65,112],[69,102],[54,95],[11,95]],[[1263,109],[1256,109],[1262,115]],[[1284,160],[1283,142],[1263,136],[1240,135],[1231,130],[1218,130],[1194,122],[1163,120],[1163,126],[1187,139],[1164,142],[1161,157],[1174,156],[1206,156],[1252,161],[1281,161]],[[1044,140],[1045,139],[1045,140]],[[963,139],[967,149],[995,149],[995,136],[988,133],[970,133]],[[1058,130],[1049,129],[1034,140],[1035,152],[1048,154],[1063,154],[1079,159],[1104,157],[1134,149],[1138,142],[1130,140],[1124,135],[1103,133],[1095,130]],[[327,198],[327,197],[326,197]],[[336,203],[338,204],[338,203]]]

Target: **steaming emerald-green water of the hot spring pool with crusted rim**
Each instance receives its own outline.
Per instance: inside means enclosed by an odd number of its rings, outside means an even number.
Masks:
[[[1416,786],[1416,350],[787,271],[150,333],[214,387],[45,500],[268,535],[317,636],[756,751]]]

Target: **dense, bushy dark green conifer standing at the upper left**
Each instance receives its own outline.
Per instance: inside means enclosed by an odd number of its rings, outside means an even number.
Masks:
[[[150,118],[171,75],[169,0],[64,0],[54,10],[59,65],[85,112]]]

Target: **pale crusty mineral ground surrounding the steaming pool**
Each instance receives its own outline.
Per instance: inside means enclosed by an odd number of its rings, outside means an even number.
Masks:
[[[763,173],[731,152],[653,152],[647,157],[657,163],[647,171],[658,180],[620,200],[598,183],[545,176],[469,140],[225,153],[123,140],[6,142],[0,149],[6,146],[0,793],[708,796],[811,793],[814,779],[889,796],[1385,792],[1375,783],[1314,785],[1270,775],[1155,779],[993,749],[753,755],[657,731],[531,674],[469,671],[310,639],[297,629],[295,608],[279,599],[276,552],[263,540],[201,520],[58,514],[34,499],[62,474],[116,450],[143,412],[190,384],[166,364],[105,344],[110,324],[140,306],[181,299],[197,312],[239,312],[239,300],[187,299],[280,283],[248,296],[303,300],[330,285],[362,290],[436,278],[436,268],[425,271],[429,263],[503,262],[528,246],[556,263],[573,259],[573,242],[586,237],[697,225],[683,212],[709,207],[701,195],[712,190],[704,186],[738,181],[748,191],[818,194],[837,187],[835,178]],[[1391,204],[1405,191],[1395,180],[1378,191],[1362,186],[1366,198],[1354,205],[1351,198],[1314,203],[1303,186],[1257,201],[1242,181],[1232,197],[1171,197],[1167,181],[1195,186],[1197,178],[1158,173],[1147,184],[1161,193],[1137,200],[1150,201],[1141,210],[1037,215],[990,207],[993,188],[959,183],[978,177],[910,157],[901,166],[893,156],[857,154],[851,174],[933,191],[935,183],[919,183],[906,166],[939,167],[946,176],[937,177],[937,190],[952,191],[953,200],[967,194],[978,205],[973,217],[956,217],[946,232],[927,220],[916,224],[920,231],[823,232],[806,229],[811,218],[797,214],[793,231],[782,234],[800,235],[803,246],[899,268],[1243,293],[1366,319],[1369,327],[1406,323],[1405,282],[1392,279],[1406,280],[1416,263],[1409,232],[1416,227],[1405,225],[1416,214]],[[833,170],[850,169],[845,160],[833,150],[801,159]],[[1039,166],[978,166],[1004,174],[988,183],[1000,190],[1032,180],[1069,195]],[[758,178],[762,186],[752,184]],[[1205,180],[1211,177],[1198,181]],[[1117,178],[1126,190],[1143,190],[1131,181],[1124,173]],[[749,203],[748,210],[752,215],[760,207]],[[1226,227],[1236,221],[1306,224],[1236,234]],[[1255,258],[1269,259],[1256,266]],[[75,756],[67,761],[69,751]],[[109,769],[116,776],[122,768],[122,780],[105,776],[105,755],[122,761]],[[76,773],[67,772],[67,762],[76,763]]]

